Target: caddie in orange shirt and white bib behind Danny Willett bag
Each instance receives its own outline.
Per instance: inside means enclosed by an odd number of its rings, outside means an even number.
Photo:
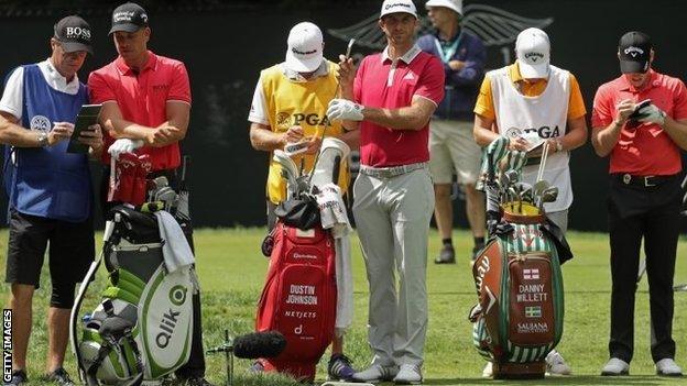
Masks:
[[[546,217],[565,233],[572,205],[570,151],[587,142],[585,102],[577,79],[549,63],[548,35],[526,29],[515,43],[514,64],[487,73],[475,104],[475,139],[487,146],[508,136],[511,152],[526,152],[522,180],[534,185],[542,152],[547,152],[543,179],[558,188],[558,198],[544,205]],[[535,150],[536,148],[536,150]],[[557,351],[546,356],[550,374],[570,374]],[[492,375],[491,363],[483,372]]]

